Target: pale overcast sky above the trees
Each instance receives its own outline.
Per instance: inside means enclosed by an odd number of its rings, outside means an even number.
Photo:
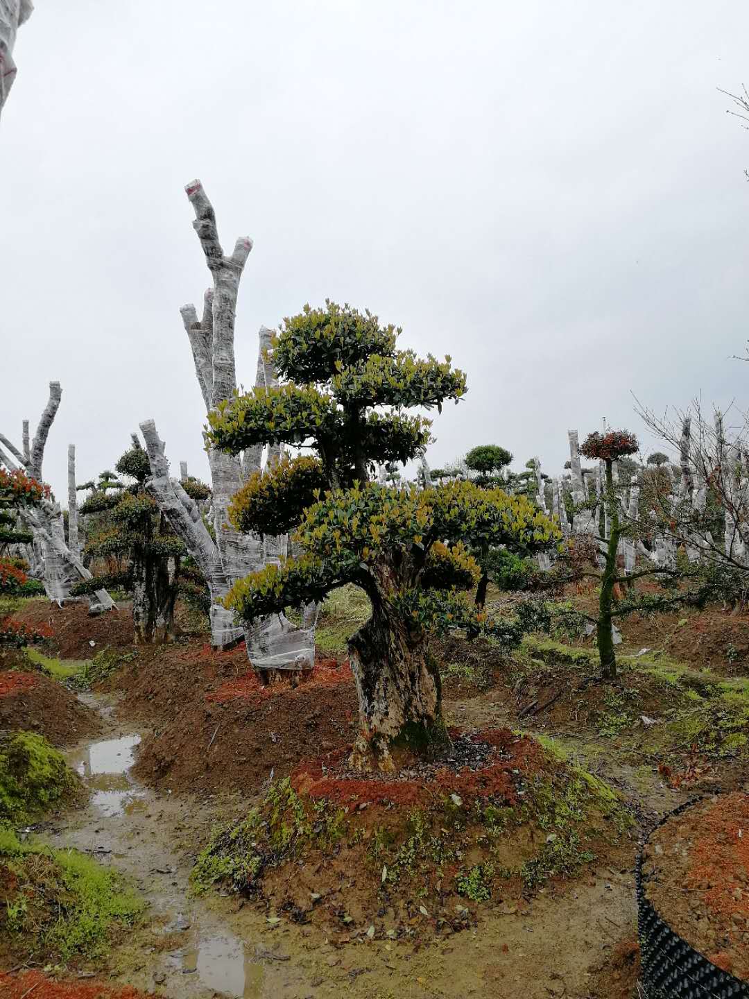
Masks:
[[[743,403],[749,135],[716,88],[748,37],[739,0],[36,0],[0,121],[0,430],[58,380],[63,502],[68,443],[82,482],[150,417],[207,478],[194,177],[225,250],[255,241],[239,379],[262,324],[369,308],[467,373],[432,465],[496,443],[555,473],[568,428],[641,431],[632,392]]]

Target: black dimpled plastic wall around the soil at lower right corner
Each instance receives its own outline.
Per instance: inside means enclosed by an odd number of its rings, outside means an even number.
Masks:
[[[649,835],[697,800],[687,801],[669,812]],[[749,982],[722,971],[682,940],[645,897],[642,859],[649,835],[640,846],[636,868],[641,981],[647,999],[749,999]]]

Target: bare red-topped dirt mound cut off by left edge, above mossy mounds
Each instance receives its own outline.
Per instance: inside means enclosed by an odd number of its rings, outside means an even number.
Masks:
[[[61,683],[41,673],[0,672],[0,730],[38,732],[66,746],[101,731],[95,711]]]

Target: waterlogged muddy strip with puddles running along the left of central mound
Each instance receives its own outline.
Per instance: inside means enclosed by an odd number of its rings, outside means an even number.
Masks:
[[[131,771],[142,733],[118,731],[115,704],[105,698],[88,694],[86,702],[113,730],[66,753],[91,794],[51,838],[55,845],[74,846],[121,870],[149,902],[150,938],[142,946],[131,945],[128,967],[117,977],[158,995],[186,999],[266,999],[282,989],[286,995],[310,995],[294,973],[280,973],[287,955],[272,954],[262,935],[241,938],[221,913],[191,895],[192,858],[173,845],[174,832],[201,822],[208,826],[215,816],[198,802],[157,795],[140,784]]]

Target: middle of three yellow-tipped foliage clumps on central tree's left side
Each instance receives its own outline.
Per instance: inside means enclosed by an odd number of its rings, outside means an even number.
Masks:
[[[229,519],[238,530],[285,534],[299,523],[305,507],[320,499],[326,486],[317,458],[285,457],[265,475],[256,472],[250,477],[229,504]]]

